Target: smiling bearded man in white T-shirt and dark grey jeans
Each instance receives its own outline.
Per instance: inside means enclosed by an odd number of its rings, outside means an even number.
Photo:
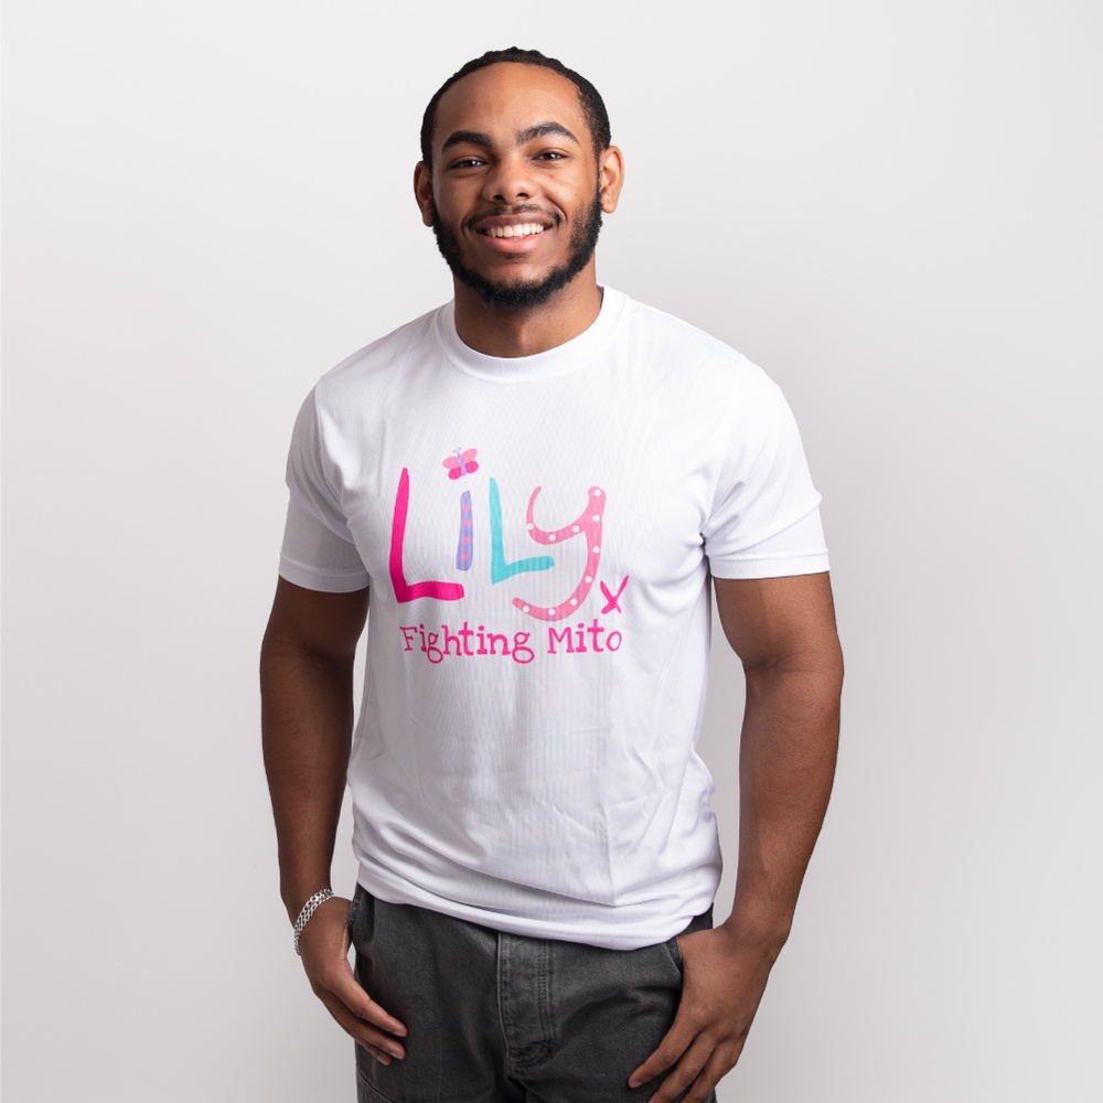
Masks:
[[[288,464],[261,682],[296,945],[362,1101],[713,1099],[834,771],[818,495],[758,368],[597,283],[623,162],[589,82],[490,53],[421,137],[454,300],[324,376]],[[716,929],[710,587],[747,678]],[[346,772],[352,903],[330,889]]]

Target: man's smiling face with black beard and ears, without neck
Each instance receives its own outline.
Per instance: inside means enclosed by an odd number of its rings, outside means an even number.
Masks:
[[[615,186],[593,151],[578,90],[501,63],[441,97],[433,168],[415,189],[453,276],[486,304],[539,306],[591,263]]]

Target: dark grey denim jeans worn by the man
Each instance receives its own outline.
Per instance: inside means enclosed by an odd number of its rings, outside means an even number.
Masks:
[[[389,1065],[356,1048],[360,1103],[646,1103],[662,1083],[628,1078],[674,1021],[676,938],[642,950],[527,939],[363,888],[349,929],[356,978],[409,1030]]]

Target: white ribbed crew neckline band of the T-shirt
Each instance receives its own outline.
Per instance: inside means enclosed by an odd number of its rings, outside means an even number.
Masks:
[[[532,356],[488,356],[465,345],[456,332],[456,300],[437,311],[437,335],[458,371],[493,383],[529,383],[581,371],[606,346],[624,309],[627,297],[601,289],[598,317],[576,338]]]

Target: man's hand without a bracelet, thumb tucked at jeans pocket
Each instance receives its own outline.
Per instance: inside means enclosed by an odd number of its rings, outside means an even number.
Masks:
[[[713,1091],[739,1060],[777,959],[727,927],[683,934],[678,946],[684,984],[677,1015],[628,1082],[639,1088],[671,1070],[651,1103],[670,1103],[683,1092],[685,1103],[698,1103]]]

